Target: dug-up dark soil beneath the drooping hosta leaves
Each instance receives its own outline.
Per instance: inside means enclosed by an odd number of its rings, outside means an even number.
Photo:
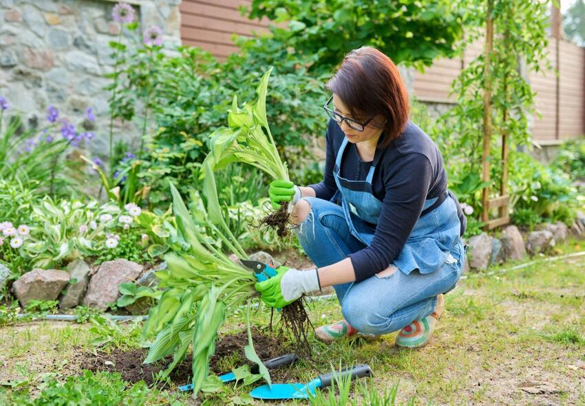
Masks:
[[[269,337],[259,330],[253,329],[252,340],[254,348],[262,360],[278,357],[286,354],[288,351],[284,348],[285,345],[278,339]],[[226,335],[221,337],[215,344],[215,354],[209,361],[209,369],[211,373],[222,374],[218,365],[224,357],[230,357],[236,352],[240,359],[245,360],[244,346],[248,344],[248,334],[244,330],[234,335]],[[97,352],[83,352],[76,355],[76,363],[80,364],[81,368],[91,371],[109,371],[118,372],[122,375],[125,381],[135,383],[138,381],[145,381],[148,385],[152,385],[155,381],[156,374],[159,371],[167,368],[167,365],[173,361],[173,357],[169,356],[164,361],[156,363],[143,364],[142,361],[147,357],[148,350],[145,348],[136,348],[134,350],[113,350],[111,352],[97,351]],[[177,365],[169,378],[178,385],[185,385],[191,381],[191,363],[193,358],[191,354],[185,357],[184,361]],[[236,365],[238,366],[238,365]],[[286,370],[286,368],[283,368]],[[281,376],[283,373],[271,371],[271,375],[275,372],[275,376]]]

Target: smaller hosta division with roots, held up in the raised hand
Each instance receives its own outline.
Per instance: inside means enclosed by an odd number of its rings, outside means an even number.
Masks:
[[[232,108],[228,112],[228,127],[220,127],[211,135],[211,151],[206,157],[212,170],[219,170],[233,162],[244,162],[264,171],[272,179],[288,178],[286,163],[281,161],[266,118],[266,91],[269,69],[257,87],[258,99],[253,104],[237,106],[233,96]],[[268,214],[262,224],[277,229],[279,236],[286,236],[288,225],[288,203]]]

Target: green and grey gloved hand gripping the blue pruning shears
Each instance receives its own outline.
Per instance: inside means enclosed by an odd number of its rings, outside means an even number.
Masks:
[[[270,307],[283,308],[295,302],[304,293],[321,290],[317,269],[299,271],[288,267],[279,267],[277,275],[254,285],[262,295],[262,301]]]

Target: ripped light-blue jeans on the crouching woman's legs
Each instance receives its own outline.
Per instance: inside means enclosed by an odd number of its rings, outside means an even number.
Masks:
[[[305,197],[311,210],[296,229],[305,252],[317,265],[326,267],[345,259],[365,245],[352,236],[341,207],[330,201]],[[451,250],[447,262],[432,273],[417,270],[408,275],[372,277],[361,282],[333,286],[345,320],[360,332],[382,335],[430,315],[437,295],[455,288],[463,270],[462,241]]]

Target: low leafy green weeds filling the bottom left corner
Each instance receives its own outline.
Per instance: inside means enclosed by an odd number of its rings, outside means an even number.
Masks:
[[[3,404],[23,406],[181,405],[172,397],[149,388],[144,381],[129,385],[117,372],[90,371],[69,376],[64,383],[51,379],[41,394],[34,397],[27,391],[0,392],[0,401],[6,402]]]

